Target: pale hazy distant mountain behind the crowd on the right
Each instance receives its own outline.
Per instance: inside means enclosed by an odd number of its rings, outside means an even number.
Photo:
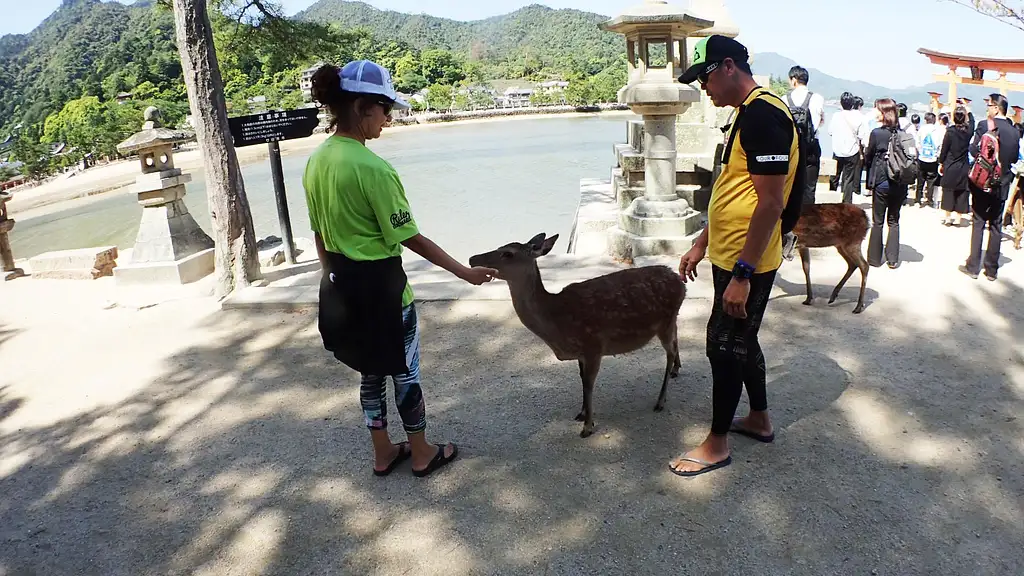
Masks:
[[[794,66],[797,66],[797,63],[785,56],[776,54],[775,52],[763,52],[753,55],[751,68],[755,74],[785,79],[788,78],[790,69]],[[913,102],[928,102],[931,99],[928,92],[941,92],[945,94],[949,90],[947,84],[940,82],[924,86],[911,86],[909,88],[886,88],[867,82],[836,78],[813,68],[808,68],[807,72],[811,77],[811,90],[823,95],[826,99],[839,99],[843,92],[850,92],[864,98],[867,106],[870,106],[870,102],[876,98],[882,97],[891,97],[896,101],[908,105]],[[992,91],[991,88],[983,86],[961,85],[956,87],[956,94],[958,96],[966,96],[977,101],[983,100]]]

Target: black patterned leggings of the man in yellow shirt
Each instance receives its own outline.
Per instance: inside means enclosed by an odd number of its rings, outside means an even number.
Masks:
[[[715,304],[711,320],[708,321],[708,360],[711,361],[714,380],[711,424],[711,433],[714,435],[729,433],[744,384],[751,410],[768,409],[765,355],[758,342],[758,330],[775,284],[775,273],[776,271],[755,274],[751,278],[746,318],[739,319],[726,314],[722,306],[722,297],[732,281],[732,273],[712,266]]]

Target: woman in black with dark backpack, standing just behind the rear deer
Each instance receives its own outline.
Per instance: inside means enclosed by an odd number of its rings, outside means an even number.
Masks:
[[[867,189],[871,197],[871,236],[867,242],[867,262],[882,265],[882,227],[889,224],[885,243],[886,263],[890,269],[899,266],[899,211],[906,201],[907,187],[890,180],[886,173],[886,155],[889,138],[899,131],[899,109],[892,98],[874,100],[874,109],[882,126],[871,130],[867,140],[864,162],[867,164]]]

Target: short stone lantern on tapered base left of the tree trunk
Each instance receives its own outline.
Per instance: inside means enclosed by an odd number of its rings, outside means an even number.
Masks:
[[[142,219],[129,262],[114,270],[120,284],[187,284],[213,272],[211,239],[185,207],[188,174],[174,167],[172,148],[193,136],[161,126],[160,111],[150,107],[142,131],[118,145],[122,154],[138,153],[142,175],[132,192],[142,205]]]

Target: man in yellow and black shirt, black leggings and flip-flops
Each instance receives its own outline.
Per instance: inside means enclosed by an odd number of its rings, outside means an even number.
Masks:
[[[714,380],[711,434],[670,464],[677,475],[696,476],[731,463],[730,431],[774,440],[758,330],[782,263],[780,216],[798,183],[800,151],[788,108],[757,85],[739,42],[724,36],[701,40],[679,81],[697,81],[715,106],[736,108],[708,228],[679,263],[684,282],[690,282],[707,256],[715,282],[707,349]],[[733,420],[744,384],[751,413]]]

